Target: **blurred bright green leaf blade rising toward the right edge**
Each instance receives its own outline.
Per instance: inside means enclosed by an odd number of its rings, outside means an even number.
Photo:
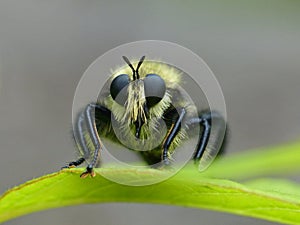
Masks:
[[[203,172],[222,179],[245,179],[269,174],[298,174],[300,142],[225,155]]]

